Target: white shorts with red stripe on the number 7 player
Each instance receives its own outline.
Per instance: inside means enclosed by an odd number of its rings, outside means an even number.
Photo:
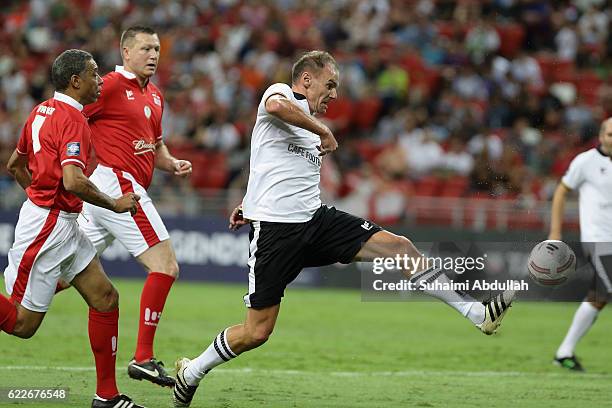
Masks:
[[[30,200],[23,203],[4,271],[13,301],[33,312],[46,312],[57,281],[71,282],[96,256],[79,229],[77,215],[39,207]]]

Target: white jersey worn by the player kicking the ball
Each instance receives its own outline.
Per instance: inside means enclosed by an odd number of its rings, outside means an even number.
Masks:
[[[269,222],[306,222],[321,207],[321,139],[268,113],[266,100],[281,94],[310,114],[308,101],[286,84],[271,85],[257,108],[244,217]]]

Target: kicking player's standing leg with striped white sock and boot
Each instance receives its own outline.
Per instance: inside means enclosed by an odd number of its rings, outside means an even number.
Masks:
[[[176,362],[174,406],[188,407],[200,381],[210,370],[264,344],[272,334],[279,310],[280,304],[262,309],[249,308],[244,323],[223,330],[198,357],[179,359]]]

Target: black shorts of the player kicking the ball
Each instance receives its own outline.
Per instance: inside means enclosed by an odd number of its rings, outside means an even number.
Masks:
[[[303,268],[350,263],[378,225],[334,207],[321,206],[310,221],[253,221],[249,234],[248,307],[277,305]]]

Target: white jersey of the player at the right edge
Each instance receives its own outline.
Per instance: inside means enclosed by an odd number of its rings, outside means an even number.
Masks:
[[[578,190],[581,241],[612,242],[612,159],[597,148],[580,153],[561,181]]]

